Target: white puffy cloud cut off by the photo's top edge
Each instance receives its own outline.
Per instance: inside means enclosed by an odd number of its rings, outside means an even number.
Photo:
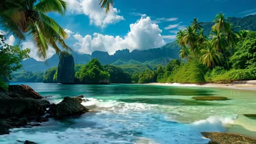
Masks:
[[[96,0],[66,0],[67,9],[72,14],[85,14],[90,19],[90,25],[94,24],[101,28],[106,27],[109,24],[113,24],[124,20],[123,16],[118,15],[119,10],[112,8],[105,13],[104,9],[101,9]]]

